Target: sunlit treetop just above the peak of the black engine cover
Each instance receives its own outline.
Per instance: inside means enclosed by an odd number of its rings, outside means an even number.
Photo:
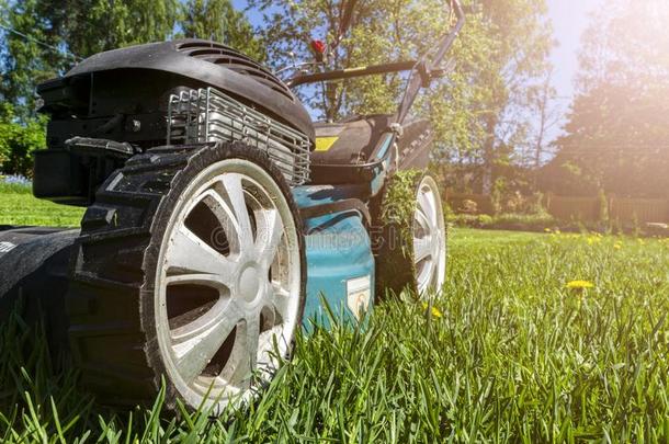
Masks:
[[[257,60],[265,58],[262,39],[229,0],[189,0],[183,5],[180,24],[185,37],[213,39]]]

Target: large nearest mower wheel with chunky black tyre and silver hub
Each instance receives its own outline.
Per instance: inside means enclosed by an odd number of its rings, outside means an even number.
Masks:
[[[68,297],[84,383],[109,403],[220,411],[290,355],[302,223],[281,173],[242,144],[132,159],[89,208]]]

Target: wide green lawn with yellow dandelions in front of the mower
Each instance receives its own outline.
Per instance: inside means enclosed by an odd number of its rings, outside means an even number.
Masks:
[[[258,400],[216,420],[160,419],[160,398],[98,407],[14,319],[0,441],[669,440],[669,241],[458,229],[447,276],[433,307],[392,299],[365,328],[298,338]]]

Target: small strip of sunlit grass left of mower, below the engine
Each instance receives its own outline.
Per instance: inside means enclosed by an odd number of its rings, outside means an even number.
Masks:
[[[78,227],[82,216],[83,208],[41,201],[27,186],[0,183],[0,225]]]

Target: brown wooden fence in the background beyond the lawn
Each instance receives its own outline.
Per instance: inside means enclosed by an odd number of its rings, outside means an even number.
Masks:
[[[466,202],[469,201],[469,202]],[[455,213],[495,213],[490,196],[483,194],[463,194],[446,192],[446,202]],[[476,205],[472,205],[474,202]],[[669,223],[669,200],[661,198],[627,198],[614,195],[608,196],[602,203],[600,197],[575,197],[548,194],[543,202],[548,213],[562,220],[597,221],[601,220],[602,212],[606,210],[609,218],[623,224]],[[475,212],[472,212],[475,207]]]

